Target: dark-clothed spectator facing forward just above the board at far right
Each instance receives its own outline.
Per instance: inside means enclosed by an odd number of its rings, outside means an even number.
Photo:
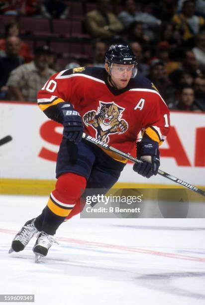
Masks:
[[[177,100],[174,104],[169,105],[171,110],[184,111],[200,111],[199,107],[195,105],[195,92],[191,86],[183,86],[177,92]]]

